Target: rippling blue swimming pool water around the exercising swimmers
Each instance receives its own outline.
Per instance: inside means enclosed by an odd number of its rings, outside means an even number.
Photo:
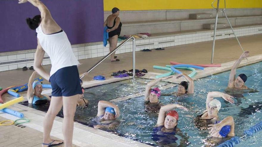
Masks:
[[[261,121],[260,110],[262,108],[262,62],[237,69],[237,75],[245,73],[248,77],[246,85],[255,90],[248,90],[244,93],[238,92],[234,98],[235,104],[225,102],[222,98],[218,98],[222,103],[222,108],[219,111],[219,118],[223,119],[226,116],[232,115],[235,121],[236,136],[243,136],[243,131]],[[195,80],[195,94],[184,96],[161,96],[160,103],[174,104],[179,103],[189,109],[189,112],[177,110],[180,114],[178,128],[187,136],[186,141],[188,146],[203,146],[206,138],[209,137],[205,131],[198,130],[194,126],[193,118],[201,114],[205,110],[206,95],[209,91],[225,92],[228,84],[229,72],[223,72],[216,75],[211,75],[206,78]],[[99,100],[110,100],[117,97],[124,97],[129,94],[143,91],[145,85],[150,80],[137,78],[135,82],[124,80],[117,83],[110,83],[102,86],[91,87],[85,89],[85,98],[89,100],[87,108],[77,108],[75,121],[88,124],[91,119],[96,116],[97,103]],[[160,82],[158,85],[163,86],[169,83]],[[177,87],[172,87],[162,91],[162,94],[171,94],[177,91]],[[152,143],[152,146],[157,146],[157,143],[152,140],[152,128],[157,122],[156,113],[147,113],[144,111],[144,97],[136,97],[121,102],[114,102],[121,110],[119,117],[120,125],[112,131],[115,134],[128,137],[134,140],[140,140],[145,143]],[[37,109],[47,111],[48,105],[40,106]],[[62,111],[58,116],[63,116]],[[178,138],[177,145],[181,137]],[[257,132],[253,136],[235,146],[261,146],[259,139],[262,137],[262,132]]]

